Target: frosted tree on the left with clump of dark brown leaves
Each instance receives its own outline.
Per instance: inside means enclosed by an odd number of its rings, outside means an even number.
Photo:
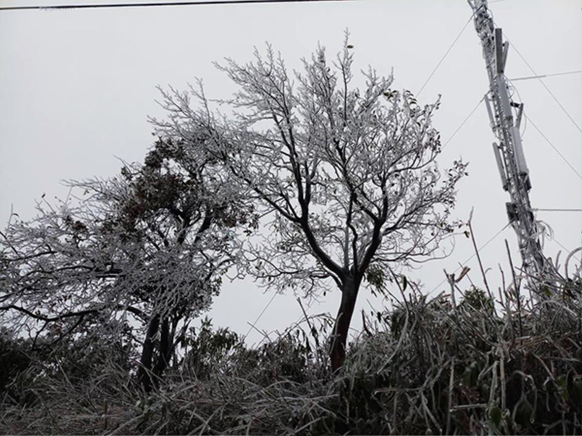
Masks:
[[[84,194],[56,207],[38,203],[35,219],[1,234],[0,322],[56,344],[95,317],[103,328],[137,321],[137,374],[150,389],[235,262],[236,227],[256,226],[214,164],[158,140],[144,165],[75,182]]]

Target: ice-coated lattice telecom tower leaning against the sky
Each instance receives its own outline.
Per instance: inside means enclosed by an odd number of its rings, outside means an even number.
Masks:
[[[530,174],[519,133],[523,103],[514,102],[510,98],[504,74],[509,43],[503,42],[501,28],[495,27],[487,0],[467,1],[473,8],[475,30],[481,39],[487,67],[489,91],[485,95],[485,105],[491,128],[498,140],[498,143],[493,143],[493,151],[503,190],[509,192],[510,201],[505,205],[509,222],[517,234],[523,270],[530,276],[530,283],[531,279],[537,278],[550,284],[556,277],[556,271],[542,253],[539,230],[528,194],[531,190]]]

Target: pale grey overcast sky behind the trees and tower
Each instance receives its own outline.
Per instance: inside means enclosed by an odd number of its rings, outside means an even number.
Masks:
[[[69,0],[73,2],[73,0]],[[2,5],[48,5],[62,1],[3,1]],[[495,22],[512,47],[506,74],[510,78],[582,69],[580,1],[502,0],[490,3]],[[162,117],[155,103],[156,85],[185,89],[203,78],[207,95],[228,97],[234,90],[212,61],[230,56],[250,60],[253,47],[271,42],[290,68],[310,56],[318,42],[332,54],[342,49],[349,28],[356,66],[371,65],[388,75],[394,67],[395,88],[417,92],[471,16],[464,0],[355,0],[270,5],[171,6],[83,10],[0,10],[0,220],[10,209],[22,219],[34,216],[34,200],[65,196],[61,180],[108,177],[120,169],[115,156],[141,161],[152,144],[146,117]],[[582,76],[547,77],[544,83],[563,108],[582,124]],[[570,164],[582,173],[582,135],[538,80],[516,81],[528,117]],[[435,127],[448,140],[488,89],[481,46],[473,23],[465,28],[446,59],[420,94],[419,103],[442,94]],[[479,245],[508,222],[491,142],[494,136],[483,103],[443,151],[449,166],[462,156],[470,177],[459,185],[456,217],[466,220],[474,207],[473,227]],[[580,177],[559,157],[531,123],[523,138],[533,188],[534,208],[582,207]],[[582,214],[539,212],[553,228],[555,240],[571,250],[580,245]],[[507,270],[504,238],[519,263],[516,236],[508,227],[482,250],[488,280],[501,283],[498,263]],[[545,254],[563,250],[546,241]],[[432,291],[473,253],[470,240],[457,237],[453,255],[407,273]],[[562,259],[565,254],[562,254]],[[470,276],[481,284],[475,260]],[[463,282],[469,285],[467,281]],[[437,291],[445,289],[444,285]],[[227,283],[208,314],[219,326],[239,333],[252,322],[272,295],[251,280]],[[283,330],[301,316],[293,295],[277,295],[257,327]],[[360,309],[368,310],[362,291]],[[370,299],[370,301],[372,301]],[[379,303],[375,303],[378,305]],[[335,315],[339,293],[328,294],[309,313]],[[253,331],[250,342],[261,336]]]

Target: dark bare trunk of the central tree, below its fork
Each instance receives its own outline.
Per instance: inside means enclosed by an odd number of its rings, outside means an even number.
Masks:
[[[360,288],[360,280],[352,277],[346,278],[342,286],[342,302],[339,306],[338,316],[333,327],[333,338],[329,355],[331,357],[331,368],[335,372],[343,365],[346,359],[347,333],[352,321],[356,297]]]

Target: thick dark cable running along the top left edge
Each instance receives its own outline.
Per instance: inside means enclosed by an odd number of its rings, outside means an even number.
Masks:
[[[262,3],[349,2],[354,0],[200,0],[185,2],[93,3],[85,5],[0,6],[0,10],[60,10],[100,8],[147,8],[159,6],[248,5]]]

